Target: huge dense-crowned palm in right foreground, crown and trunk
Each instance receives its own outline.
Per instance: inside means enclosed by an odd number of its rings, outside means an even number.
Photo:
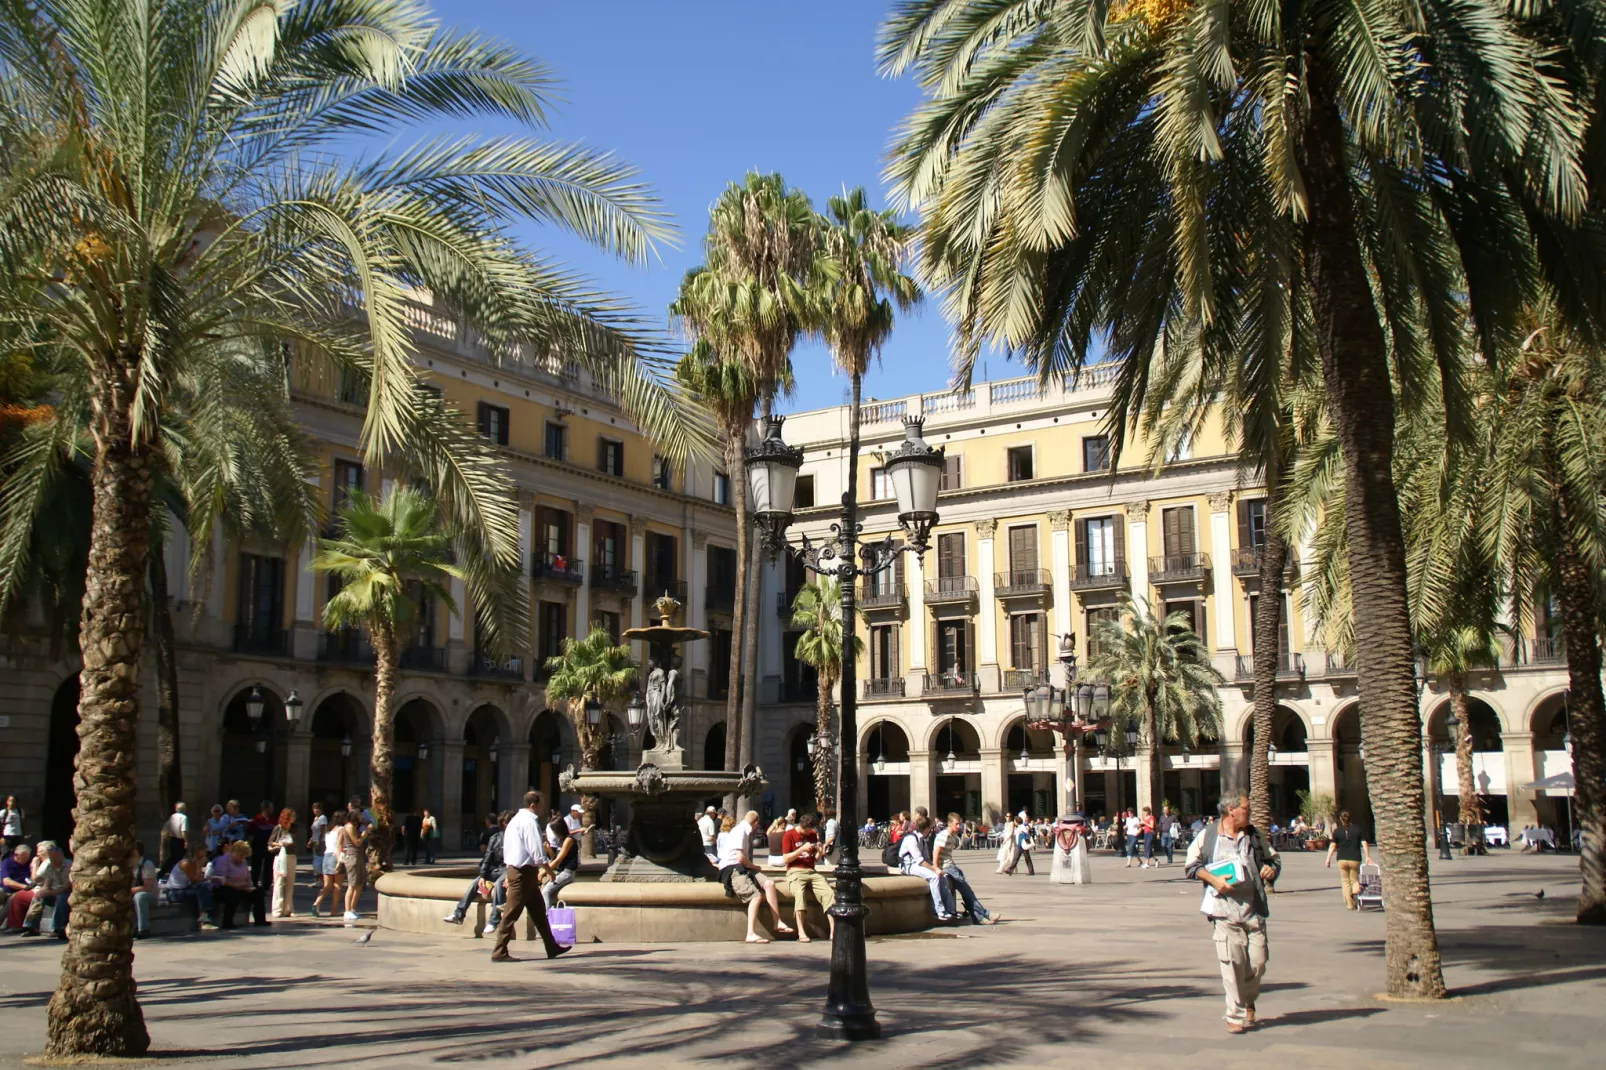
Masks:
[[[882,40],[883,71],[914,71],[928,96],[891,178],[922,210],[960,378],[983,342],[1049,378],[1074,376],[1099,341],[1123,361],[1121,442],[1156,350],[1187,336],[1213,363],[1304,350],[1238,349],[1245,321],[1309,337],[1365,577],[1355,649],[1396,996],[1442,996],[1444,972],[1394,411],[1442,402],[1460,432],[1463,336],[1497,357],[1540,284],[1595,317],[1584,101],[1601,56],[1556,29],[1569,18],[1437,0],[906,0]]]

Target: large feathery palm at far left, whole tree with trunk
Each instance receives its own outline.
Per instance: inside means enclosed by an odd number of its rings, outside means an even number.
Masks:
[[[544,67],[442,29],[416,0],[6,5],[0,84],[0,329],[74,357],[95,443],[79,909],[47,1051],[138,1056],[149,1036],[132,974],[125,786],[153,456],[170,403],[226,392],[234,360],[283,374],[286,345],[336,361],[369,384],[369,464],[405,461],[432,487],[469,575],[511,574],[516,504],[472,429],[414,390],[406,296],[427,292],[495,352],[588,365],[673,456],[695,442],[658,342],[612,297],[528,252],[507,220],[546,222],[636,262],[666,230],[628,167],[528,137],[549,109]],[[363,162],[337,154],[357,137],[382,143],[443,117],[516,132]],[[0,574],[24,540],[0,535]]]

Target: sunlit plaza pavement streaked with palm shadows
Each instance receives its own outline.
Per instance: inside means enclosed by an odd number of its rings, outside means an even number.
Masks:
[[[1598,1067],[1606,930],[1572,924],[1577,861],[1434,861],[1453,1001],[1391,1004],[1381,913],[1343,909],[1322,855],[1272,903],[1262,1025],[1229,1036],[1200,888],[1094,860],[1095,884],[962,858],[1005,921],[870,941],[887,1038],[816,1041],[830,948],[586,945],[493,966],[485,940],[339,922],[137,945],[156,1059],[220,1067]],[[1545,890],[1545,898],[1535,892]],[[304,901],[310,898],[304,893]],[[365,919],[371,927],[371,916]],[[59,945],[0,940],[0,1067],[39,1065]],[[1595,1052],[1593,1056],[1590,1052]]]

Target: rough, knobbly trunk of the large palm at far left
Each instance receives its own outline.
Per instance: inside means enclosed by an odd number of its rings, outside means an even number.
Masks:
[[[128,413],[138,360],[95,370],[95,509],[79,644],[79,760],[72,919],[50,998],[45,1054],[143,1056],[151,1046],[133,985],[133,860],[140,644],[151,538],[149,447]]]

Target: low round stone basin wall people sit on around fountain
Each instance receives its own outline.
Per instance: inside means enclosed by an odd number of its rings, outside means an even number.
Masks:
[[[872,869],[866,866],[866,869]],[[875,869],[883,869],[877,866]],[[829,879],[830,866],[819,871]],[[475,905],[463,925],[442,921],[463,895],[463,888],[479,872],[474,866],[416,872],[387,872],[376,882],[379,893],[379,927],[474,938],[485,927],[488,905]],[[777,879],[781,909],[792,924],[792,896],[781,880],[781,871],[764,871]],[[575,937],[580,943],[703,943],[742,941],[747,937],[747,908],[740,900],[726,898],[718,882],[636,884],[577,880],[564,888],[562,903],[575,911]],[[922,932],[936,924],[931,893],[925,880],[901,874],[866,876],[866,935]],[[760,932],[774,937],[768,908],[758,911]],[[825,919],[817,909],[809,913],[809,935],[825,935]],[[520,938],[536,940],[533,924],[520,922]]]

